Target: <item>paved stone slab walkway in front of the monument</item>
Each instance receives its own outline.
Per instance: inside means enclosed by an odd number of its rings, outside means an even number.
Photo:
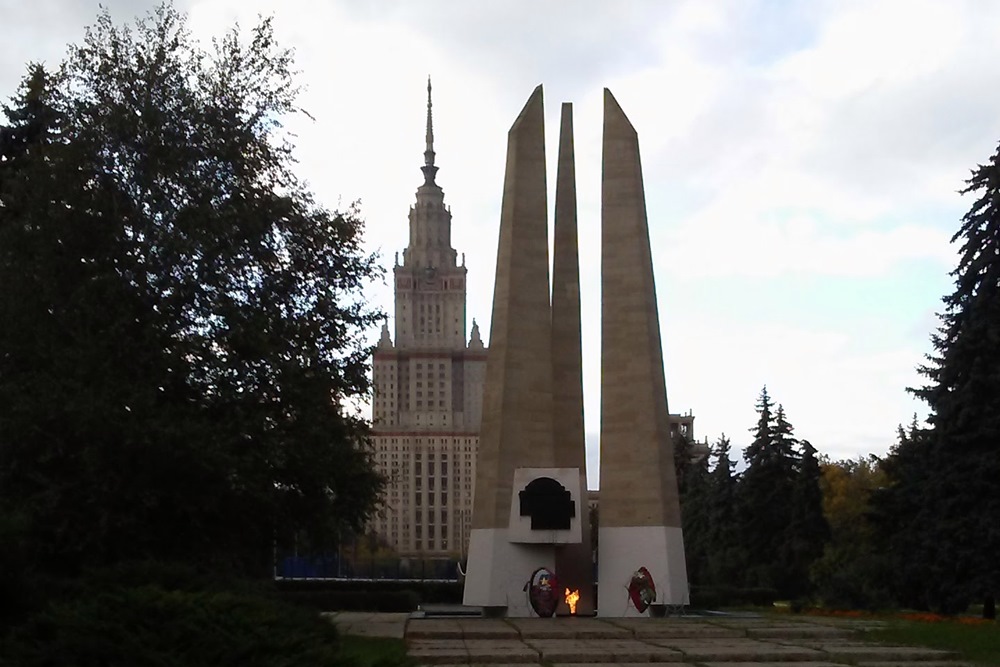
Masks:
[[[946,651],[865,642],[873,621],[826,618],[409,618],[341,612],[347,634],[405,637],[422,665],[959,667]]]

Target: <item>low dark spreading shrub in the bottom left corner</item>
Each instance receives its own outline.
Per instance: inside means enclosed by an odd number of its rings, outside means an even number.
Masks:
[[[246,593],[108,588],[52,604],[0,640],[19,667],[344,664],[314,611]]]

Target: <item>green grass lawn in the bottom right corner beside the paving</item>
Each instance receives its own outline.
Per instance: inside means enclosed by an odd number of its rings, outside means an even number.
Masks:
[[[867,639],[911,646],[958,651],[965,660],[1000,666],[1000,626],[996,623],[964,625],[955,621],[922,623],[887,619],[882,630],[865,633]]]

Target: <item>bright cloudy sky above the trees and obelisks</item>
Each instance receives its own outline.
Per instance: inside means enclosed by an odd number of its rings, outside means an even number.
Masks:
[[[150,0],[104,0],[131,20]],[[923,407],[929,351],[971,204],[1000,140],[1000,3],[899,0],[179,0],[208,39],[273,15],[293,47],[300,173],[359,199],[391,267],[421,183],[426,77],[438,183],[488,332],[506,132],[545,87],[550,186],[574,103],[588,448],[600,405],[601,91],[639,132],[670,409],[742,448],[767,384],[831,458],[882,454]],[[91,0],[0,0],[0,95],[57,63]],[[550,208],[552,205],[550,195]],[[372,298],[391,310],[387,286]]]

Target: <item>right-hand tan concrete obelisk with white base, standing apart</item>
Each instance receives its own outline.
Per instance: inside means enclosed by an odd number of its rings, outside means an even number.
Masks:
[[[601,175],[600,616],[627,603],[645,567],[656,604],[687,604],[687,567],[673,464],[656,286],[639,139],[604,90]]]

